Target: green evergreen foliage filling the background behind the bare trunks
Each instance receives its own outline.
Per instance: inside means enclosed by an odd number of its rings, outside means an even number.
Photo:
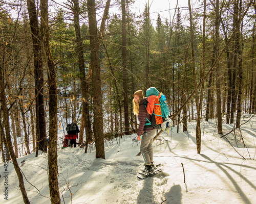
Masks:
[[[97,20],[100,22],[103,11],[102,5],[104,1],[97,1]],[[80,8],[80,30],[83,40],[83,54],[86,66],[86,74],[89,71],[90,65],[90,41],[88,14],[86,2],[79,2]],[[232,33],[232,6],[227,1],[222,4],[222,22],[220,25],[220,48],[225,46],[224,33],[227,38]],[[119,108],[123,113],[123,82],[122,82],[122,21],[120,1],[115,1],[113,7],[119,9],[111,15],[106,23],[103,40],[100,46],[100,63],[101,63],[101,79],[102,79],[102,101],[105,105],[106,112],[119,113]],[[52,8],[52,7],[51,7]],[[67,7],[68,8],[68,7]],[[156,87],[160,92],[164,92],[171,112],[175,112],[180,106],[181,92],[184,91],[188,96],[194,91],[193,73],[191,70],[191,45],[190,31],[187,27],[187,16],[184,16],[182,9],[177,9],[174,22],[168,19],[162,19],[158,14],[156,26],[153,26],[148,5],[145,5],[141,16],[136,16],[132,13],[133,1],[126,1],[126,60],[127,60],[127,85],[128,99],[132,102],[133,93],[142,89],[145,91],[146,84],[146,69],[149,69],[148,79],[150,86]],[[100,12],[99,12],[100,11]],[[255,48],[254,45],[254,27],[255,13],[250,11],[248,18],[244,22],[243,30],[243,68],[247,74],[244,80],[244,87],[248,87],[246,81],[250,81],[252,68],[255,65]],[[2,29],[1,41],[1,61],[3,61],[8,69],[14,67],[12,74],[16,78],[22,75],[26,65],[32,64],[32,42],[29,33],[29,19],[25,17],[14,22],[5,12],[4,7],[0,10],[0,25]],[[76,35],[73,25],[72,11],[66,8],[57,6],[54,8],[50,16],[50,42],[51,52],[57,67],[57,84],[58,89],[72,93],[73,83],[77,84],[76,93],[80,93],[81,87],[79,82],[79,68]],[[201,81],[202,62],[203,62],[203,47],[202,47],[202,11],[195,9],[193,12],[193,30],[194,30],[194,49],[196,57],[196,78],[197,83]],[[223,23],[223,24],[222,24]],[[99,28],[99,24],[98,24]],[[224,29],[224,30],[223,30]],[[224,32],[225,31],[225,32]],[[206,57],[205,69],[206,72],[211,68],[214,55],[215,45],[215,10],[214,7],[207,5],[206,18]],[[229,46],[230,55],[233,52],[232,43]],[[29,52],[28,52],[29,50]],[[3,60],[3,54],[7,57]],[[148,58],[148,59],[147,59]],[[28,63],[29,62],[29,63]],[[226,79],[227,59],[223,55],[220,59],[222,67],[222,77]],[[8,70],[6,69],[6,70]],[[253,72],[254,73],[254,72]],[[26,72],[26,74],[28,74]],[[31,74],[31,73],[30,73]],[[8,75],[8,74],[7,74]],[[46,78],[45,74],[45,78]],[[255,77],[255,75],[254,75]],[[24,80],[25,85],[29,84],[28,78]],[[90,82],[89,82],[90,83]],[[207,82],[205,82],[207,83]],[[254,83],[254,81],[253,81]],[[16,89],[18,83],[14,82],[12,86]],[[223,90],[226,88],[223,83]],[[206,87],[206,86],[205,86]],[[91,89],[92,90],[92,89]],[[206,95],[204,95],[206,98]],[[132,109],[132,103],[131,109]],[[130,111],[131,116],[132,112]],[[119,117],[119,116],[118,116]],[[118,119],[120,120],[120,119]],[[121,121],[119,121],[121,122]]]

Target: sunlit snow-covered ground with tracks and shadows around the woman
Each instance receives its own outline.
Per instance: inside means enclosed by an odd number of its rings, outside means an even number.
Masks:
[[[106,141],[105,160],[95,159],[95,149],[89,149],[88,154],[80,147],[59,150],[61,203],[256,203],[256,127],[253,121],[241,129],[247,148],[238,133],[227,136],[231,144],[238,146],[233,148],[217,135],[215,121],[202,122],[201,154],[197,154],[195,126],[190,123],[187,133],[177,133],[174,127],[172,132],[163,133],[154,142],[154,160],[163,164],[163,172],[144,180],[136,176],[143,169],[142,156],[136,156],[140,141],[132,140],[136,134]],[[232,125],[223,124],[224,134],[231,128]],[[26,176],[30,202],[51,203],[47,155],[35,158],[33,153],[18,158],[18,163]],[[7,168],[8,178],[4,177],[4,163],[0,163],[1,203],[23,203],[13,165],[9,163]],[[8,186],[5,186],[6,181]],[[8,200],[4,199],[5,187],[8,187]]]

